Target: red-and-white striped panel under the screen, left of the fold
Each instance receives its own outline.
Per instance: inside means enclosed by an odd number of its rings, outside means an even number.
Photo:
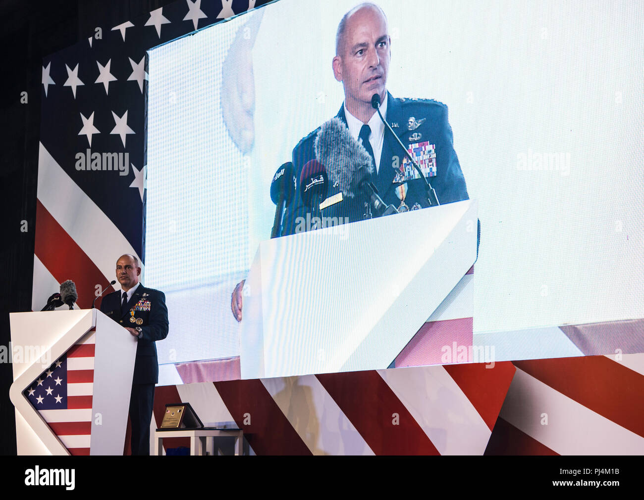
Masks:
[[[181,400],[205,425],[243,429],[258,455],[482,454],[514,371],[504,362],[165,386],[155,421]]]

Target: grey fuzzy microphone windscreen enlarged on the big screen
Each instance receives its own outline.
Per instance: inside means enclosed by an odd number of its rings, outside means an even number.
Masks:
[[[357,185],[374,172],[371,156],[339,118],[323,123],[317,132],[315,150],[317,161],[327,168],[330,183],[346,197],[353,198]]]

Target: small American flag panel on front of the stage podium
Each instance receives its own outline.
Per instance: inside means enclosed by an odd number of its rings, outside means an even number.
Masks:
[[[24,391],[72,455],[90,454],[95,333],[90,330]]]

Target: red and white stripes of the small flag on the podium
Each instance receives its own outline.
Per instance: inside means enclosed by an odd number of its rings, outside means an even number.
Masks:
[[[90,454],[95,330],[67,352],[67,408],[39,410],[72,455]]]

